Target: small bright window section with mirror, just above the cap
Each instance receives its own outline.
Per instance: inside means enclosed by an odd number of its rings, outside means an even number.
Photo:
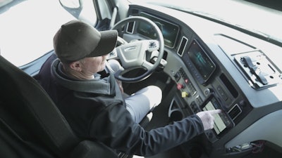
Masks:
[[[85,20],[91,25],[97,24],[97,13],[92,0],[59,0],[61,6],[71,15],[80,20]]]

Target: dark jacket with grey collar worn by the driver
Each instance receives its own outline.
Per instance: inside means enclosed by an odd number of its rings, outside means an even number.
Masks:
[[[127,154],[149,156],[185,143],[204,131],[197,115],[145,131],[125,109],[114,75],[70,79],[60,71],[59,60],[54,59],[49,58],[42,66],[39,83],[80,138],[101,141]]]

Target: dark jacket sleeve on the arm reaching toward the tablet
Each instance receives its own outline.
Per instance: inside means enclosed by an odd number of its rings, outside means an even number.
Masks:
[[[185,143],[203,131],[197,115],[145,131],[123,105],[110,105],[92,121],[90,136],[126,154],[152,156]]]

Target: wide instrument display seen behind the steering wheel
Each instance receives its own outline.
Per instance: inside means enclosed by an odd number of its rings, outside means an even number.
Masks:
[[[140,13],[140,16],[152,20],[161,30],[161,33],[164,36],[164,44],[170,48],[174,47],[174,45],[176,44],[176,38],[179,31],[178,25],[174,25],[171,22],[161,20],[147,13]],[[151,25],[147,24],[146,22],[139,23],[137,27],[137,32],[146,37],[149,37],[150,39],[157,39],[154,29],[152,28]]]

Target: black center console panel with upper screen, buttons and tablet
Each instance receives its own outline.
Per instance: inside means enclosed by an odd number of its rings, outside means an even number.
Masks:
[[[179,93],[171,104],[170,112],[173,114],[176,109],[181,109],[185,117],[204,110],[222,110],[214,116],[214,129],[205,131],[207,139],[215,143],[233,129],[251,107],[240,96],[227,73],[220,70],[219,63],[197,40],[192,41],[188,51],[182,54],[182,60],[187,67],[180,67],[173,76]]]

